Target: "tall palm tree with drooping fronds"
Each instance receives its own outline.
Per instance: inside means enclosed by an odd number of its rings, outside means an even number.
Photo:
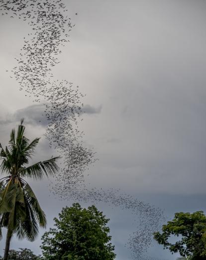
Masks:
[[[7,228],[3,260],[7,260],[9,245],[15,233],[19,239],[34,241],[38,234],[38,224],[46,227],[45,213],[42,211],[31,187],[25,177],[42,179],[44,175],[52,175],[59,167],[54,157],[26,167],[40,138],[32,142],[24,136],[25,127],[21,124],[17,132],[11,130],[8,147],[0,144],[1,172],[7,176],[0,179],[0,238],[1,227]]]

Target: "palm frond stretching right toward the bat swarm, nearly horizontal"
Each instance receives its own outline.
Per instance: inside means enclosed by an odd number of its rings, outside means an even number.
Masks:
[[[44,175],[53,175],[59,170],[56,160],[60,157],[54,157],[49,160],[37,162],[27,168],[21,168],[19,174],[21,177],[29,177],[33,179],[42,179]]]

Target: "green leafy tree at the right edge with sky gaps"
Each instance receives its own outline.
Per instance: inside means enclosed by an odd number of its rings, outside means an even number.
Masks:
[[[168,239],[172,236],[181,240],[172,244]],[[162,234],[154,233],[154,239],[169,249],[190,260],[206,260],[206,216],[203,211],[194,213],[176,213],[172,221],[163,225]]]

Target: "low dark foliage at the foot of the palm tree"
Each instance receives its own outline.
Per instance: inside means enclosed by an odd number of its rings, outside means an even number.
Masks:
[[[36,256],[30,249],[22,249],[19,248],[20,251],[9,250],[8,252],[8,260],[41,260],[41,256]],[[0,257],[0,260],[2,258]]]

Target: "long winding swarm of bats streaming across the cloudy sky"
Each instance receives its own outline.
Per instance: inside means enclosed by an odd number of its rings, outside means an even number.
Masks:
[[[83,145],[84,133],[78,128],[84,95],[78,86],[55,80],[52,74],[52,67],[60,63],[61,46],[69,41],[73,27],[65,4],[62,0],[0,0],[0,16],[3,15],[22,19],[31,26],[11,72],[25,96],[33,102],[44,102],[48,120],[45,136],[63,157],[64,166],[55,176],[52,192],[62,199],[103,201],[130,210],[139,223],[128,247],[134,259],[146,259],[143,254],[152,243],[153,232],[160,228],[163,212],[119,190],[88,189],[84,184],[85,170],[96,161],[93,149]]]

